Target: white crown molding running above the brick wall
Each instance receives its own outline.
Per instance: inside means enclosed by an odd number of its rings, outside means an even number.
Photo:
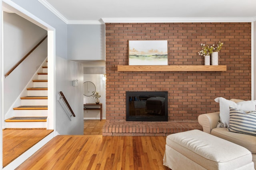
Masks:
[[[104,23],[253,22],[256,18],[102,18]]]

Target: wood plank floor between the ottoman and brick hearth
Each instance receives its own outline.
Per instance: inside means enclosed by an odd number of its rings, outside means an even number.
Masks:
[[[169,170],[164,136],[59,135],[17,170]]]

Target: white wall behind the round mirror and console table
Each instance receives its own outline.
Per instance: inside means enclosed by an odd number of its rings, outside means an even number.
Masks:
[[[102,103],[102,119],[106,119],[106,81],[102,80],[103,74],[84,74],[84,82],[93,82],[96,91],[100,94],[100,103]],[[95,103],[95,98],[84,96],[86,103]],[[84,119],[100,119],[100,111],[84,111]]]

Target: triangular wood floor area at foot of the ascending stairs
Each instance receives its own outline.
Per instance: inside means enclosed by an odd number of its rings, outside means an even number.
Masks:
[[[52,131],[46,129],[4,129],[3,166],[8,165]]]

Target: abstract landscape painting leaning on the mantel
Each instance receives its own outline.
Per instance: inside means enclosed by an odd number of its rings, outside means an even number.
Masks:
[[[129,65],[168,65],[167,40],[129,41]]]

